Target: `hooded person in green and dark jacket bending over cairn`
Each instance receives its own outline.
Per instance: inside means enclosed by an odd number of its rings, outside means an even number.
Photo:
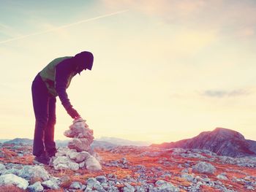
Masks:
[[[94,62],[92,53],[83,51],[75,56],[56,58],[37,74],[32,83],[32,98],[36,118],[33,155],[35,161],[48,164],[56,153],[54,126],[56,124],[56,96],[71,118],[79,118],[72,107],[66,89],[76,74],[91,70]]]

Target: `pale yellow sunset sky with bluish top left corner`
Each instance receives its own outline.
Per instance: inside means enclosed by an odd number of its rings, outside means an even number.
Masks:
[[[33,138],[31,83],[83,50],[67,89],[94,137],[152,143],[216,127],[256,140],[256,1],[0,0],[0,137]],[[57,98],[55,139],[72,124]]]

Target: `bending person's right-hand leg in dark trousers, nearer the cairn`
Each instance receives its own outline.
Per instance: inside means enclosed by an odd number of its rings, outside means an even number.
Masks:
[[[48,152],[48,155],[52,156],[56,153],[56,144],[54,142],[54,126],[56,124],[56,97],[50,97],[48,112],[48,124],[45,128],[45,150]]]

